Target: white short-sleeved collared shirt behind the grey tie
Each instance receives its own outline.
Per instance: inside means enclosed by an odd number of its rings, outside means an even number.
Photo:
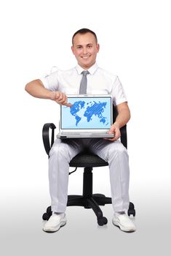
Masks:
[[[82,71],[84,69],[79,65],[68,70],[58,69],[40,80],[49,91],[76,95],[79,94]],[[96,63],[88,71],[90,74],[87,75],[87,94],[111,94],[115,106],[127,102],[122,84],[116,75],[101,69]]]

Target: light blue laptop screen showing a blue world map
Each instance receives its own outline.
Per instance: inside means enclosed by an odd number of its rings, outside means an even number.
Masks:
[[[68,97],[61,106],[60,129],[110,129],[111,97]]]

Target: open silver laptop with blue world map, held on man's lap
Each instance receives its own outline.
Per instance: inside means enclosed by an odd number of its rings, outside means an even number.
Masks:
[[[57,138],[114,138],[111,95],[67,95],[72,107],[60,106]]]

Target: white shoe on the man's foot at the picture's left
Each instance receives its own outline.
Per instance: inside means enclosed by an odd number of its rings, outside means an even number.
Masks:
[[[43,230],[45,232],[56,232],[66,224],[65,214],[53,213],[52,216],[44,224]]]

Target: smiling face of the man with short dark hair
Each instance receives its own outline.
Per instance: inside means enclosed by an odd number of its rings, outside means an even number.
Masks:
[[[96,42],[95,36],[92,33],[76,34],[73,37],[73,46],[71,49],[79,66],[83,69],[89,69],[95,64],[99,44]]]

